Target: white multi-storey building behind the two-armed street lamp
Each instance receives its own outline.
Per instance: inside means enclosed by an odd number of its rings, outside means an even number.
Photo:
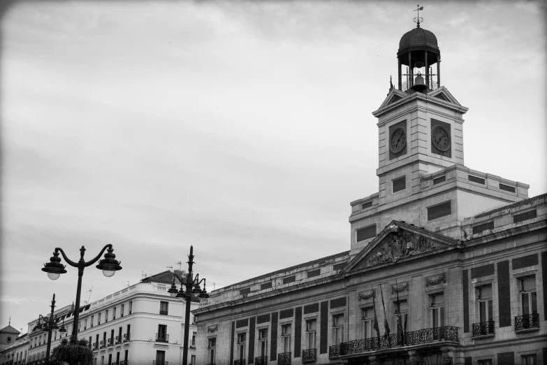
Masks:
[[[175,365],[182,362],[186,303],[167,292],[173,275],[180,287],[180,276],[165,271],[80,307],[78,338],[89,341],[97,365]],[[195,298],[191,307],[197,306]],[[67,331],[52,331],[52,349],[62,338],[71,336],[74,308],[61,308],[54,315],[58,318],[59,329],[64,325]],[[33,331],[37,322],[38,319],[29,322],[27,364],[45,362],[48,335],[39,329]],[[191,322],[188,358],[195,364],[197,329],[193,315]]]

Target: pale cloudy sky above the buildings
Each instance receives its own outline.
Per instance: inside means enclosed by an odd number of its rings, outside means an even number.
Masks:
[[[465,165],[547,192],[540,2],[421,4]],[[111,243],[95,301],[187,261],[207,289],[350,248],[378,192],[377,120],[415,3],[18,1],[1,24],[0,328],[75,300],[54,248]],[[184,269],[184,266],[182,266]],[[87,292],[93,287],[92,292]]]

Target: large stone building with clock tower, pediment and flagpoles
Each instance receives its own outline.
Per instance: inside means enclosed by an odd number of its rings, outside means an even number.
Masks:
[[[349,250],[214,290],[198,365],[547,362],[547,194],[465,166],[440,59],[419,22],[400,39]]]

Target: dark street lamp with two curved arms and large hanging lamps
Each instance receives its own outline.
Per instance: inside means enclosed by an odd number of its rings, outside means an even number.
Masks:
[[[105,253],[105,258],[99,260],[99,258],[101,257],[101,255],[103,255],[103,252],[105,252],[107,248],[108,252]],[[99,270],[102,270],[103,274],[107,278],[110,278],[110,276],[114,275],[116,271],[122,270],[122,266],[119,266],[119,264],[121,264],[122,262],[117,262],[116,255],[114,255],[112,251],[114,251],[112,245],[105,245],[99,255],[94,257],[94,259],[85,262],[85,247],[82,246],[82,248],[80,248],[80,260],[78,262],[73,262],[71,259],[68,259],[68,257],[66,257],[64,251],[61,248],[55,248],[53,256],[50,258],[50,262],[48,262],[48,264],[44,264],[44,267],[42,268],[42,271],[48,273],[48,277],[51,280],[57,280],[61,273],[66,273],[66,270],[64,269],[66,268],[66,265],[61,264],[61,259],[59,259],[59,252],[61,252],[61,255],[63,255],[65,261],[70,266],[78,268],[78,289],[76,290],[76,308],[74,310],[74,325],[72,329],[72,335],[74,337],[76,337],[78,334],[78,319],[80,318],[80,292],[82,292],[82,275],[84,275],[84,269],[99,260],[99,265],[95,267]]]

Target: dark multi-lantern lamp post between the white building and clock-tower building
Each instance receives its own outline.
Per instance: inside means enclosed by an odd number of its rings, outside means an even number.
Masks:
[[[188,255],[188,273],[186,275],[186,283],[181,283],[180,290],[177,291],[175,285],[175,275],[173,275],[173,285],[171,285],[168,293],[171,296],[176,296],[182,301],[182,298],[186,298],[186,313],[184,316],[184,347],[182,348],[182,365],[188,365],[188,338],[190,332],[190,303],[192,300],[192,294],[199,294],[200,298],[209,298],[207,290],[205,290],[205,278],[199,280],[199,274],[196,277],[192,274],[192,265],[194,262],[194,246],[190,246],[190,255]],[[203,290],[199,286],[203,281]],[[186,287],[186,292],[184,292]]]

